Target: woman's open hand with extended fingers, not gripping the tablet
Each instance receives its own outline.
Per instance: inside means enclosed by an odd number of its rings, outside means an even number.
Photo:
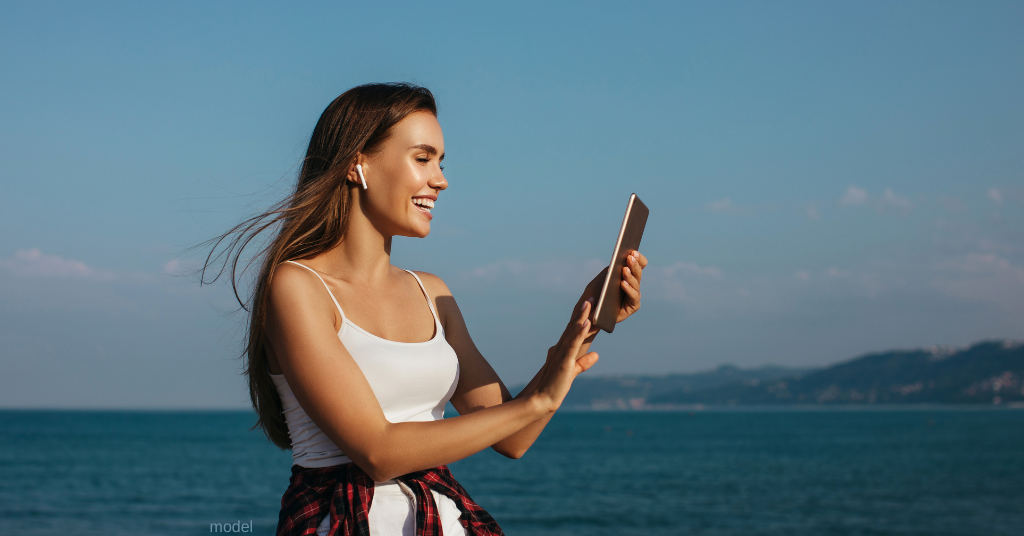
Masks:
[[[532,396],[549,413],[561,407],[577,375],[597,363],[598,355],[593,352],[577,357],[590,334],[591,306],[593,298],[584,301],[558,342],[548,348],[548,360],[541,369],[541,381]]]

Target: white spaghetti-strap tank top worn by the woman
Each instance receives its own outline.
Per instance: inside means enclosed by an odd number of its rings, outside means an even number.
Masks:
[[[420,284],[434,318],[434,337],[426,342],[396,342],[367,332],[352,324],[341,311],[331,288],[316,271],[286,260],[312,272],[338,307],[341,329],[338,337],[362,370],[389,422],[440,420],[444,406],[459,384],[459,358],[444,339],[444,330],[420,278]],[[352,461],[306,415],[288,385],[284,374],[270,374],[284,408],[288,436],[292,440],[292,461],[303,467],[328,467]]]

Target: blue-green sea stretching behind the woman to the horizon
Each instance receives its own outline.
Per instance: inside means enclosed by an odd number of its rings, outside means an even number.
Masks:
[[[291,457],[253,420],[0,411],[0,535],[273,534]],[[559,413],[450,467],[510,536],[1024,534],[1021,410]]]

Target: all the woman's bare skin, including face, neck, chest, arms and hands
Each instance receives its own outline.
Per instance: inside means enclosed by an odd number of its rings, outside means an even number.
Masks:
[[[449,188],[441,161],[444,138],[429,113],[411,114],[374,154],[359,155],[347,179],[350,221],[335,248],[302,262],[327,282],[349,321],[379,337],[423,342],[434,323],[416,280],[391,265],[394,236],[426,237],[443,213]],[[360,164],[368,190],[355,172]],[[414,199],[436,201],[425,214]],[[640,307],[647,259],[631,252],[623,270],[622,322]],[[452,292],[440,278],[417,275],[430,294],[447,342],[459,358],[452,405],[461,414],[430,422],[388,422],[377,398],[338,337],[342,319],[316,277],[284,263],[274,272],[267,312],[272,373],[284,373],[299,404],[322,430],[376,482],[466,458],[487,447],[519,458],[534,444],[578,374],[597,362],[590,353],[597,329],[587,320],[602,272],[587,285],[562,336],[523,391],[513,399],[476,348]],[[523,359],[532,359],[523,357]]]

